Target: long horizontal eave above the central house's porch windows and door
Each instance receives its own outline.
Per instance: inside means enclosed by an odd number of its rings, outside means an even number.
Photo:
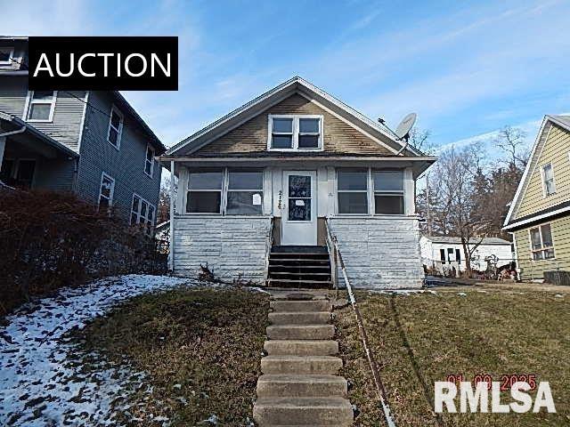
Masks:
[[[265,156],[248,156],[247,153],[241,153],[238,157],[232,156],[216,156],[216,157],[183,157],[183,156],[161,156],[158,157],[159,162],[170,170],[171,162],[175,163],[175,172],[177,166],[188,167],[221,167],[228,165],[236,166],[282,166],[287,167],[302,167],[311,169],[317,166],[326,165],[342,165],[342,166],[372,166],[372,167],[411,167],[414,179],[421,173],[426,171],[430,165],[433,165],[437,157],[400,157],[400,156],[362,156],[350,154],[329,154],[323,155],[322,153],[314,153],[303,155],[297,153],[296,156],[291,156],[290,153],[277,153],[272,152],[271,155]],[[381,162],[381,165],[379,163]]]

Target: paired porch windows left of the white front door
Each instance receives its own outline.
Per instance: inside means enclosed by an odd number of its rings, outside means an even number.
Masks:
[[[263,170],[224,168],[189,172],[187,214],[261,215],[263,202]]]

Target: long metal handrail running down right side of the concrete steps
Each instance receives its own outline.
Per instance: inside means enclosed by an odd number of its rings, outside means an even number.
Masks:
[[[362,347],[364,348],[364,352],[366,353],[366,358],[368,359],[368,363],[371,367],[372,377],[376,385],[376,391],[378,393],[378,397],[382,405],[382,410],[384,411],[384,417],[386,418],[388,427],[396,427],[394,417],[392,416],[392,412],[390,411],[390,407],[388,406],[387,391],[386,388],[384,387],[384,383],[382,383],[382,379],[380,378],[378,363],[374,358],[372,350],[370,349],[370,346],[368,344],[368,335],[366,334],[366,329],[364,328],[364,323],[362,322],[362,316],[360,314],[360,310],[358,310],[358,305],[356,304],[356,299],[354,298],[354,292],[352,286],[350,285],[350,280],[348,280],[348,276],[346,275],[345,262],[343,261],[342,254],[338,249],[337,236],[332,234],[332,232],[330,231],[329,218],[327,218],[325,225],[327,229],[328,238],[330,237],[330,240],[332,241],[332,244],[334,246],[335,254],[338,255],[340,270],[342,271],[342,276],[345,280],[346,291],[348,292],[350,304],[353,307],[354,316],[356,317],[356,323],[358,324],[358,332],[360,333],[360,337],[362,340]]]

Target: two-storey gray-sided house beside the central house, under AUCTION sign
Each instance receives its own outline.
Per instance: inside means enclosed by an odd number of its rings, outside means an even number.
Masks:
[[[0,180],[153,225],[164,145],[118,92],[29,92],[27,63],[28,38],[0,36]]]

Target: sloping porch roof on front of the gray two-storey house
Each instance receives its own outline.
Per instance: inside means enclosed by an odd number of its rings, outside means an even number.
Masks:
[[[65,146],[59,141],[55,141],[52,137],[37,130],[34,126],[29,125],[20,117],[0,111],[0,135],[12,131],[24,129],[21,133],[14,133],[8,138],[17,143],[21,143],[26,149],[38,152],[44,157],[69,157],[77,158],[79,153]],[[39,145],[38,145],[39,144]]]

